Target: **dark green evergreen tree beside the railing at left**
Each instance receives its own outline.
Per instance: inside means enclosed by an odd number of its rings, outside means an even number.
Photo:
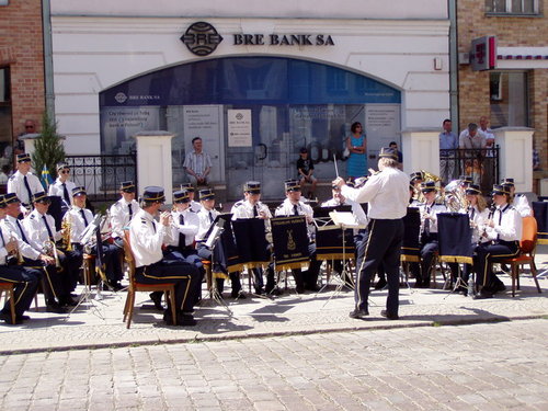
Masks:
[[[65,161],[62,139],[57,134],[57,124],[49,118],[47,111],[44,111],[42,117],[41,136],[34,141],[32,160],[38,178],[41,178],[45,165],[53,179],[57,178],[57,163]],[[42,183],[44,184],[44,181]]]

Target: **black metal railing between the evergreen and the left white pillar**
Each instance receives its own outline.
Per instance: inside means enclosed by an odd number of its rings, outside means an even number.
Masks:
[[[119,184],[137,185],[137,156],[67,156],[72,181],[84,186],[91,201],[112,202],[119,198]]]

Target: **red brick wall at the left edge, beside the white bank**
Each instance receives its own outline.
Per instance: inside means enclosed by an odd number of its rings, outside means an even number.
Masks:
[[[24,130],[25,119],[36,121],[45,109],[42,2],[10,0],[0,7],[0,67],[10,67],[12,134]]]

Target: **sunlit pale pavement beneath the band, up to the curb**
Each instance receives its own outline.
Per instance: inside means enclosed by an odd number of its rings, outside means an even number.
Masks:
[[[548,250],[548,246],[543,246]],[[539,270],[548,269],[548,254],[537,254]],[[544,288],[538,294],[530,275],[521,277],[521,290],[512,298],[511,281],[502,275],[509,290],[496,298],[473,300],[447,290],[409,289],[400,292],[400,320],[380,317],[387,292],[370,294],[370,318],[366,321],[349,318],[353,309],[353,293],[334,295],[333,286],[327,292],[297,295],[285,293],[275,299],[248,297],[235,301],[227,299],[233,316],[208,299],[196,308],[197,327],[165,327],[161,312],[141,309],[148,302],[147,293],[137,293],[134,321],[129,330],[122,322],[126,293],[106,293],[102,300],[90,300],[70,316],[60,316],[34,308],[32,317],[21,326],[0,326],[0,354],[68,349],[109,347],[161,342],[194,342],[227,339],[287,335],[326,331],[383,328],[411,328],[432,324],[475,323],[548,316],[548,279],[539,279]],[[441,287],[439,281],[437,284]],[[205,294],[204,294],[205,295]],[[43,304],[43,298],[39,298]],[[148,300],[148,301],[147,301]]]

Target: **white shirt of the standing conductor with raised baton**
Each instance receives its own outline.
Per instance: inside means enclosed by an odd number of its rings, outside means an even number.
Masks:
[[[387,167],[359,189],[343,185],[341,194],[353,202],[369,203],[367,216],[372,219],[398,219],[408,212],[409,178],[404,172]]]

